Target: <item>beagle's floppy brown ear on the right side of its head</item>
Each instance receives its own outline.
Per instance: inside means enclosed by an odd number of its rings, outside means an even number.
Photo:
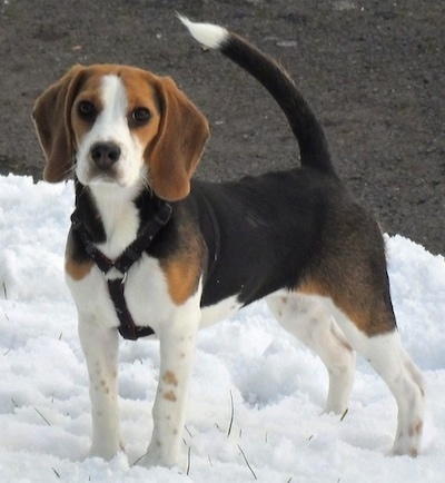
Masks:
[[[209,127],[205,116],[170,78],[159,80],[158,93],[159,131],[146,159],[155,194],[176,201],[190,191],[190,178],[201,158]]]

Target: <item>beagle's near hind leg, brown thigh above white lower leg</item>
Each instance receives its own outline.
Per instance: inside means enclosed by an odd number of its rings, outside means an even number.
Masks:
[[[387,282],[383,275],[373,277],[369,273],[358,269],[356,264],[349,273],[337,270],[343,277],[335,282],[318,275],[298,290],[325,302],[349,344],[387,384],[398,408],[393,453],[416,456],[424,418],[422,374],[402,346]]]

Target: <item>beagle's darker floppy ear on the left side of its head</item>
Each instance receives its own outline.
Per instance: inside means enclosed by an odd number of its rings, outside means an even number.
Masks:
[[[83,70],[82,66],[72,67],[34,103],[32,117],[47,160],[43,179],[49,183],[62,181],[72,168],[71,107]]]

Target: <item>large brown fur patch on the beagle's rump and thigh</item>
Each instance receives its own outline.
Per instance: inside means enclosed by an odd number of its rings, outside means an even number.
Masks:
[[[369,337],[390,333],[396,322],[382,233],[346,193],[335,198],[325,206],[317,245],[295,288],[329,297]]]

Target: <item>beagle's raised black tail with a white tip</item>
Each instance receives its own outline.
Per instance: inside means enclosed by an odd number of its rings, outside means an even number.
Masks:
[[[301,165],[335,175],[323,128],[283,67],[224,27],[195,23],[185,17],[178,17],[198,42],[219,50],[247,70],[271,93],[298,140]]]

